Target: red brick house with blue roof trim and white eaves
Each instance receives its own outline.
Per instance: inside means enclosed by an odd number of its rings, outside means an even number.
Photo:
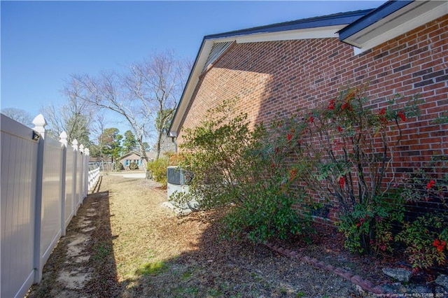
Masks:
[[[421,115],[402,127],[396,171],[448,155],[448,1],[388,1],[337,13],[205,36],[169,136],[183,141],[209,108],[238,98],[252,123],[287,118],[336,97],[340,87],[370,83],[381,108],[394,94],[421,94]],[[331,217],[332,215],[330,215]]]

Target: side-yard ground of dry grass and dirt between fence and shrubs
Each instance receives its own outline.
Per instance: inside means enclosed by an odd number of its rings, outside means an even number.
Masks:
[[[104,176],[27,297],[357,297],[343,278],[219,237],[219,212],[175,215],[141,178]]]

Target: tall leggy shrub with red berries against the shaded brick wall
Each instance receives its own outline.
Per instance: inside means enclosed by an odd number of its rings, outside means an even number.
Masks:
[[[328,103],[297,113],[288,121],[288,139],[297,142],[297,159],[308,164],[300,177],[303,183],[321,200],[337,201],[346,246],[374,253],[387,250],[391,241],[387,222],[398,215],[386,200],[393,182],[386,175],[394,171],[400,124],[418,115],[419,99],[404,102],[397,96],[374,111],[365,89],[346,87]]]

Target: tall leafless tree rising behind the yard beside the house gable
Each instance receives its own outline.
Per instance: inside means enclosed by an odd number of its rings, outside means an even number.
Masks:
[[[72,75],[71,84],[80,87],[76,96],[88,104],[121,115],[139,143],[141,156],[148,161],[144,139],[156,128],[156,158],[165,124],[156,125],[158,115],[173,111],[186,81],[189,64],[174,57],[172,51],[153,52],[144,62],[132,64],[127,73],[103,71],[97,77]],[[167,122],[167,118],[162,121]]]

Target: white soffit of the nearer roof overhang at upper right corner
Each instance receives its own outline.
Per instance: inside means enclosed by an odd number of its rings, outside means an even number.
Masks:
[[[446,14],[448,1],[414,1],[345,41],[360,48],[356,53],[364,52]]]

